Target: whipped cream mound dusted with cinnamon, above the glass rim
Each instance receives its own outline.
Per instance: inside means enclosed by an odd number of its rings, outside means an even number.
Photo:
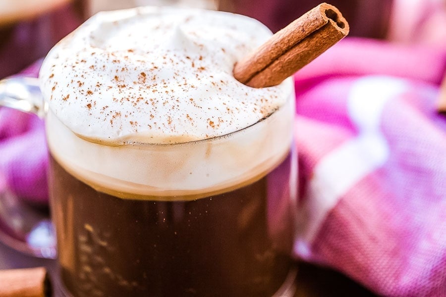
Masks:
[[[99,143],[184,143],[238,131],[269,116],[291,81],[253,89],[237,60],[271,32],[211,10],[139,7],[101,12],[60,41],[40,71],[49,109]]]

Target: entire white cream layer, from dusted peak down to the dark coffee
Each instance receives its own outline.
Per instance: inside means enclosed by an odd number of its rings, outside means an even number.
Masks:
[[[270,36],[253,19],[216,11],[94,16],[42,66],[52,154],[123,198],[197,198],[262,177],[291,143],[292,81],[253,89],[232,69]]]

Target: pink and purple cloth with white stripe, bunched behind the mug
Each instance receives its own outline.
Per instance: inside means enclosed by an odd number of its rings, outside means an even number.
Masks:
[[[445,51],[346,39],[296,74],[295,257],[380,295],[446,296],[445,68]],[[0,109],[0,171],[20,196],[46,200],[46,149],[41,120]]]

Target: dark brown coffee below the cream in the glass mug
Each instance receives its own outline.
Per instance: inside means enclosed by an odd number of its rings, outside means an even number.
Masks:
[[[293,267],[291,159],[224,194],[160,201],[97,192],[51,158],[64,286],[79,297],[273,296]]]

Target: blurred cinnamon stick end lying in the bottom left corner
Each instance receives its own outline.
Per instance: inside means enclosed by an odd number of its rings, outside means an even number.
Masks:
[[[50,297],[50,278],[44,267],[0,270],[0,297]]]

